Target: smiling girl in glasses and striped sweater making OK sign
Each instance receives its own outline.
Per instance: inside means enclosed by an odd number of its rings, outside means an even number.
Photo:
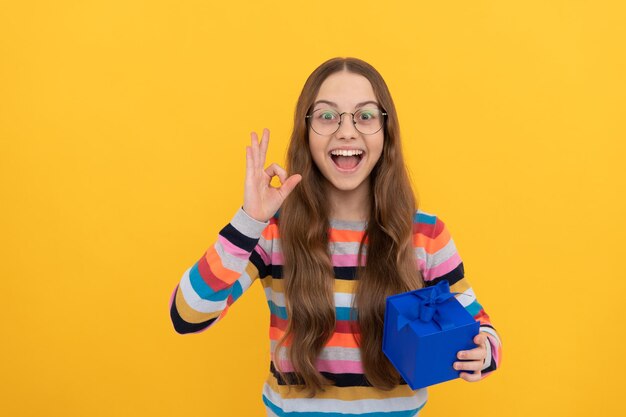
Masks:
[[[287,170],[265,168],[267,129],[260,143],[251,136],[243,207],[176,287],[177,332],[214,325],[259,279],[271,321],[269,416],[414,416],[427,392],[411,390],[382,352],[385,299],[446,280],[481,330],[454,368],[478,381],[498,367],[500,339],[446,226],[417,209],[395,107],[371,65],[335,58],[309,76]]]

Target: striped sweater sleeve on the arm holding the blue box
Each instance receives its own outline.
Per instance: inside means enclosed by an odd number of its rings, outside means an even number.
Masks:
[[[460,293],[457,300],[480,322],[480,332],[487,335],[487,358],[481,378],[495,371],[502,359],[502,342],[489,315],[478,302],[474,290],[465,278],[463,261],[445,223],[438,217],[418,211],[415,242],[422,253],[420,268],[427,286],[448,281],[451,292]],[[420,252],[418,251],[418,257]]]

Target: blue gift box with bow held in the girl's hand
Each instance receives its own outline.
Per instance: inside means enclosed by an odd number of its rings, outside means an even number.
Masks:
[[[383,352],[411,389],[458,378],[457,353],[476,347],[480,323],[454,295],[441,281],[387,297]]]

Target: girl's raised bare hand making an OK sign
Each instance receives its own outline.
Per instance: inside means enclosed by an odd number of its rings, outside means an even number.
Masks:
[[[252,132],[250,136],[251,144],[246,146],[243,209],[253,219],[266,222],[278,211],[285,198],[302,180],[302,176],[294,174],[287,177],[287,171],[278,164],[271,164],[264,169],[270,132],[263,129],[261,143],[256,132]],[[270,185],[274,176],[280,179],[280,187]]]

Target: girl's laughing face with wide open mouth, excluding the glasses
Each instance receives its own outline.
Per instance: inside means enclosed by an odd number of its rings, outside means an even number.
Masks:
[[[382,154],[384,128],[374,134],[363,134],[355,128],[349,113],[379,108],[371,83],[362,75],[342,71],[330,75],[322,83],[311,114],[319,117],[323,109],[348,112],[340,116],[342,123],[332,134],[319,134],[309,123],[309,149],[313,161],[336,190],[369,190],[366,180]],[[328,113],[326,117],[332,115]]]

